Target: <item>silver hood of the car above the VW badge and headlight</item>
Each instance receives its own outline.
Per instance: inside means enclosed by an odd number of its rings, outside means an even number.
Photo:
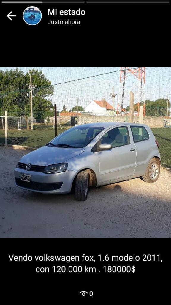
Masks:
[[[31,163],[33,165],[51,165],[65,162],[75,156],[80,155],[85,148],[63,148],[63,147],[40,147],[23,156],[19,162]]]

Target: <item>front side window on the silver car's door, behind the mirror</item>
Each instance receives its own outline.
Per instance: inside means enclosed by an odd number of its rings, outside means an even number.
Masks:
[[[111,144],[112,148],[130,144],[129,133],[126,126],[115,127],[106,132],[97,142],[97,148],[100,144]]]

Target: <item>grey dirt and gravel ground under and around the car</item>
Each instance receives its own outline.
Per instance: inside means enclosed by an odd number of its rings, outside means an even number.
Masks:
[[[13,170],[29,150],[0,146],[1,238],[171,238],[171,171],[91,188],[88,199],[17,188]]]

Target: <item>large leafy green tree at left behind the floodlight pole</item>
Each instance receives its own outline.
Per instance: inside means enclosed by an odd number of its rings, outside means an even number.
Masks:
[[[53,95],[54,86],[42,71],[32,69],[24,74],[18,68],[5,72],[0,70],[0,116],[4,116],[5,110],[8,116],[23,116],[27,129],[30,129],[30,90],[26,84],[30,84],[30,74],[32,84],[37,85],[33,91],[33,117],[45,119],[54,113],[52,101],[48,99]]]

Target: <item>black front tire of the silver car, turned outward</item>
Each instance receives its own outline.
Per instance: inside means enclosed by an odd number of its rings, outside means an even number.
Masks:
[[[81,171],[75,181],[75,199],[85,201],[89,191],[90,174],[88,170]]]

